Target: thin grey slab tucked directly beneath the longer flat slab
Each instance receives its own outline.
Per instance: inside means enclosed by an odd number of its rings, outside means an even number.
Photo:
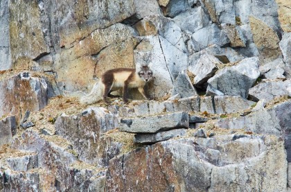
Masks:
[[[159,141],[166,141],[173,137],[181,137],[186,134],[186,129],[168,130],[157,133],[135,134],[134,143],[157,143]]]

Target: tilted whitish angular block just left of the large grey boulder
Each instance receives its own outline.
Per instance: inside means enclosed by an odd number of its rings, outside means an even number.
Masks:
[[[199,87],[209,80],[218,70],[218,64],[222,64],[218,58],[209,55],[206,51],[201,51],[200,58],[195,62],[190,62],[188,66],[188,70],[195,75],[194,85]]]

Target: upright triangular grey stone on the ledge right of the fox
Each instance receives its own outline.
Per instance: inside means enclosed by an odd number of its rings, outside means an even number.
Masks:
[[[179,94],[181,98],[197,96],[197,91],[185,71],[179,73],[179,76],[177,76],[174,82],[171,96],[175,96],[176,94]]]

